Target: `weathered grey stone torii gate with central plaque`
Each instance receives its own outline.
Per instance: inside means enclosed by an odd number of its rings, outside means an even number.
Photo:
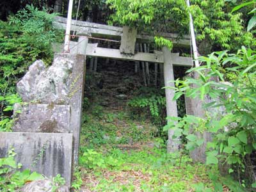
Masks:
[[[174,86],[173,65],[192,67],[193,60],[189,57],[179,56],[179,53],[169,51],[163,47],[162,51],[154,53],[135,52],[136,42],[150,42],[154,36],[137,34],[136,29],[124,26],[123,28],[115,26],[106,26],[80,20],[72,20],[71,31],[76,31],[78,42],[70,41],[69,51],[72,54],[83,54],[84,56],[97,56],[102,58],[113,58],[118,60],[147,61],[152,63],[163,63],[164,65],[164,86]],[[55,26],[59,29],[66,29],[67,19],[56,17]],[[188,47],[190,45],[190,36],[184,36],[177,40],[177,34],[161,33],[159,34],[172,40],[174,45]],[[97,47],[97,44],[88,44],[88,38],[109,38],[112,40],[121,40],[120,49],[109,49]],[[64,45],[55,45],[55,51],[62,51]],[[177,102],[173,99],[174,90],[165,89],[166,112],[167,116],[177,116]],[[179,142],[173,141],[173,131],[168,131],[168,152],[179,149]]]

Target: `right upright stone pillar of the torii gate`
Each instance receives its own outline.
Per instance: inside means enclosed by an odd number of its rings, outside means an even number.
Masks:
[[[179,56],[179,53],[172,53],[167,47],[163,47],[164,54],[164,86],[175,86],[173,82],[173,57]],[[174,90],[170,88],[165,89],[166,97],[166,112],[167,116],[178,116],[177,102],[172,100],[174,96]],[[170,122],[170,120],[168,120]],[[167,152],[175,152],[179,150],[179,139],[173,139],[174,132],[172,129],[168,131],[168,141],[167,141]]]

